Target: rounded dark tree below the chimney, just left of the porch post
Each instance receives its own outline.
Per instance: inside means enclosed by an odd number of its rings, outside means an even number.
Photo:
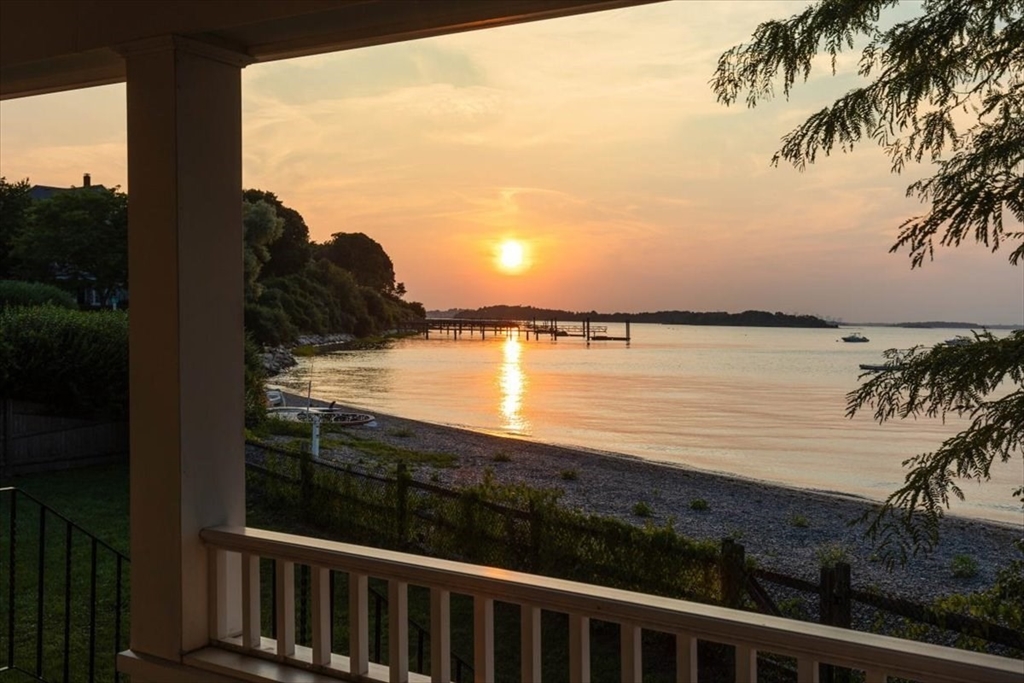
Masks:
[[[83,187],[34,203],[11,258],[23,279],[109,300],[128,285],[128,196]]]

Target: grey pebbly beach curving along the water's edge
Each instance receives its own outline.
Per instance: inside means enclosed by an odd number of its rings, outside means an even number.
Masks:
[[[301,400],[304,404],[305,399]],[[298,400],[292,404],[299,404]],[[808,581],[817,581],[821,549],[838,545],[851,564],[854,587],[928,600],[982,590],[992,583],[999,567],[1020,555],[1013,545],[1022,536],[1020,527],[949,516],[944,519],[942,540],[933,553],[890,572],[872,560],[873,548],[863,537],[863,525],[850,524],[871,507],[871,502],[863,499],[791,488],[634,456],[573,450],[375,415],[374,424],[353,429],[361,436],[396,446],[458,458],[456,467],[420,466],[414,471],[416,478],[458,486],[479,481],[489,469],[499,481],[559,488],[565,505],[637,524],[646,521],[633,512],[634,506],[642,502],[651,510],[649,520],[655,524],[673,519],[676,529],[694,539],[732,537],[745,547],[749,556],[757,559],[759,566]],[[324,455],[340,462],[359,457],[344,451]],[[696,499],[706,501],[708,509],[691,509]],[[952,577],[952,558],[962,554],[977,562],[976,577]]]

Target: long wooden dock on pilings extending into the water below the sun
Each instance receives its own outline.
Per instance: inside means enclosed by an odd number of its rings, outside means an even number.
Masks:
[[[586,340],[587,344],[598,341],[624,341],[630,343],[630,322],[626,321],[626,336],[608,334],[608,326],[592,325],[589,319],[573,323],[558,323],[557,321],[502,321],[461,317],[428,317],[420,321],[401,321],[395,326],[399,333],[415,333],[430,339],[435,337],[446,339],[486,339],[494,337],[523,337],[539,340],[547,337],[557,341],[562,337],[575,337]]]

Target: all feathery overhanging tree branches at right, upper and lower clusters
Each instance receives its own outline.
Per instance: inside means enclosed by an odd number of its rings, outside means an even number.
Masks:
[[[914,182],[926,213],[906,219],[891,251],[907,250],[911,268],[935,243],[974,239],[1010,262],[1024,258],[1024,0],[926,0],[912,18],[891,26],[883,10],[899,0],[820,0],[785,20],[762,24],[751,42],[719,59],[712,88],[749,106],[788,96],[819,53],[860,45],[864,84],[813,114],[782,138],[772,163],[799,169],[817,155],[874,140],[892,171],[932,164]],[[905,561],[938,541],[957,478],[987,479],[993,462],[1024,454],[1024,332],[988,333],[950,348],[887,352],[889,368],[848,394],[849,416],[870,408],[880,422],[927,415],[970,416],[968,428],[932,453],[904,462],[903,486],[871,514],[868,532],[889,562]],[[998,392],[996,389],[999,388]],[[1012,494],[1024,503],[1024,485]]]

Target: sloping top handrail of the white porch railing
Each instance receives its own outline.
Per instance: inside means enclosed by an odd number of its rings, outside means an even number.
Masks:
[[[735,645],[737,672],[750,673],[756,667],[756,653],[762,651],[796,657],[804,672],[816,670],[819,663],[865,671],[868,681],[890,676],[1019,683],[1024,675],[1024,661],[1017,659],[495,567],[251,527],[207,528],[201,537],[219,551],[384,579],[400,592],[407,585],[421,586],[486,603],[497,600],[562,612],[570,615],[570,623],[596,618],[677,634],[679,647],[686,652],[694,651],[694,640]],[[484,613],[476,621],[476,630],[482,630],[478,635],[483,636],[488,616]],[[258,634],[254,635],[258,642]],[[587,648],[581,644],[578,649]]]

